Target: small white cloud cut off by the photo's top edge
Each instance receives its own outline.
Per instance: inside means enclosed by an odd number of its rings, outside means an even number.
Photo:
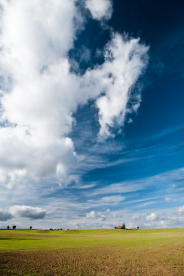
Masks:
[[[96,20],[109,20],[112,16],[111,0],[87,0],[85,7],[90,10],[92,17]]]

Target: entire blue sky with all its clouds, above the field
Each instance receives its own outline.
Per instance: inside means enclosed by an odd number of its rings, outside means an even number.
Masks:
[[[0,0],[0,228],[184,227],[183,9]]]

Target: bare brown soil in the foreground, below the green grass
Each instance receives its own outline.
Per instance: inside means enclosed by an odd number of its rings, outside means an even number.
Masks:
[[[183,248],[125,250],[92,246],[59,251],[0,251],[0,275],[183,276]]]

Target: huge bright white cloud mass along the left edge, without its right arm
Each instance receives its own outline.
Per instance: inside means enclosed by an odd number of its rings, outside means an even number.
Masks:
[[[74,148],[65,133],[76,108],[66,55],[79,13],[72,0],[3,1],[2,7],[1,179],[8,186],[20,175],[66,181]]]

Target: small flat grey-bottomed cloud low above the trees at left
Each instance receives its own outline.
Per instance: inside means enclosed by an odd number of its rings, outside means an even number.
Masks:
[[[43,219],[45,217],[46,210],[39,207],[31,206],[11,206],[10,213],[13,217],[27,217],[28,219]]]

